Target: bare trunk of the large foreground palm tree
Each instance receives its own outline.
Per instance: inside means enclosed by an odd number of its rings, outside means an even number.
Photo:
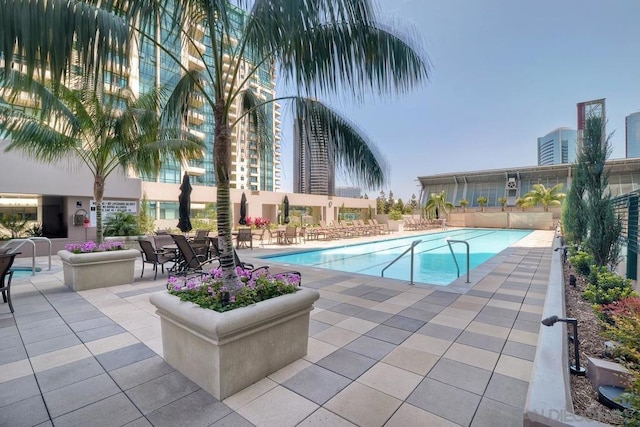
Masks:
[[[224,100],[218,99],[214,110],[215,136],[213,141],[213,161],[216,173],[218,205],[218,245],[222,283],[235,295],[241,287],[233,257],[233,236],[231,235],[231,135],[229,125],[224,120]]]

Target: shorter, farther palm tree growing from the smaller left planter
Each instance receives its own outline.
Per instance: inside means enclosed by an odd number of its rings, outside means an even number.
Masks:
[[[93,175],[96,240],[102,243],[102,200],[107,178],[117,169],[158,173],[162,161],[202,156],[204,145],[159,116],[166,90],[136,98],[128,88],[114,95],[96,91],[92,78],[67,87],[29,82],[24,74],[0,71],[0,135],[7,151],[19,150],[43,162],[75,156]],[[31,108],[21,110],[31,92]]]

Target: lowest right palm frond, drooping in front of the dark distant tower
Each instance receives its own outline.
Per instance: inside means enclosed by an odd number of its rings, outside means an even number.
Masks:
[[[367,188],[384,186],[388,166],[363,132],[317,100],[302,97],[293,100],[296,120],[302,123],[300,141],[306,144],[326,141],[330,158],[355,181]]]

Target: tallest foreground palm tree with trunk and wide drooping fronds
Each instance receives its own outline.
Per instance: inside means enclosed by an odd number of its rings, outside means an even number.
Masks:
[[[14,9],[22,8],[27,13],[26,2],[7,2]],[[61,46],[72,45],[77,34],[86,36],[86,27],[98,20],[90,5],[99,4],[107,12],[123,11],[128,14],[128,22],[143,38],[156,43],[182,69],[183,78],[171,98],[171,107],[177,108],[180,104],[183,113],[187,114],[191,108],[187,101],[194,94],[199,94],[211,108],[215,126],[213,158],[220,263],[224,284],[232,292],[240,286],[234,268],[229,191],[231,132],[234,127],[247,119],[260,138],[260,149],[266,150],[273,139],[266,126],[273,119],[273,113],[268,114],[269,108],[274,102],[290,101],[297,119],[313,122],[318,131],[328,137],[330,147],[327,151],[336,164],[352,172],[363,186],[379,188],[386,180],[387,166],[375,147],[355,125],[320,98],[339,94],[352,95],[362,101],[366,94],[389,96],[408,91],[428,78],[426,58],[409,40],[378,22],[371,0],[236,0],[233,4],[228,0],[34,0],[32,8],[37,9],[36,13],[44,13],[42,10],[47,6],[42,4],[48,3],[55,4],[58,9],[72,11],[86,3],[92,12],[84,20],[78,17],[84,24],[74,24],[72,31],[59,34],[55,43],[45,47],[45,51],[52,51],[54,57],[68,61],[61,63],[71,61],[66,59],[70,53]],[[16,13],[11,7],[5,9],[0,9],[1,21],[13,25],[11,19],[15,18],[19,22],[20,11]],[[4,18],[4,12],[8,13],[7,18]],[[71,12],[69,15],[73,16]],[[120,21],[115,15],[101,15],[100,19],[108,20],[114,28],[113,32],[104,30],[101,33],[103,37],[119,34],[116,30],[120,29]],[[42,19],[40,32],[45,33],[53,21],[61,24],[55,18],[50,22]],[[166,48],[165,40],[155,39],[155,29],[160,22],[171,22],[176,29],[176,40],[198,52],[205,64],[204,70],[189,69],[182,63],[180,52],[171,52]],[[198,47],[201,40],[196,39],[200,29],[204,31],[210,48],[206,55]],[[3,49],[5,45],[16,49],[14,37],[19,31],[3,29],[0,34],[3,31],[8,36],[0,36],[0,54],[7,55],[8,50]],[[21,37],[20,46],[24,49],[20,50],[29,51],[46,44],[44,36],[44,42],[29,40],[24,35]],[[6,41],[5,45],[3,41]],[[85,45],[86,49],[93,47],[102,53],[104,49],[100,47],[105,43],[90,45],[87,42],[82,46]],[[107,44],[111,45],[113,42]],[[27,60],[37,63],[38,58],[38,55],[31,55]],[[83,57],[91,58],[91,55]],[[276,67],[283,81],[293,88],[293,95],[268,99],[250,90],[252,81],[263,74],[274,74]],[[234,109],[240,113],[231,114]]]

